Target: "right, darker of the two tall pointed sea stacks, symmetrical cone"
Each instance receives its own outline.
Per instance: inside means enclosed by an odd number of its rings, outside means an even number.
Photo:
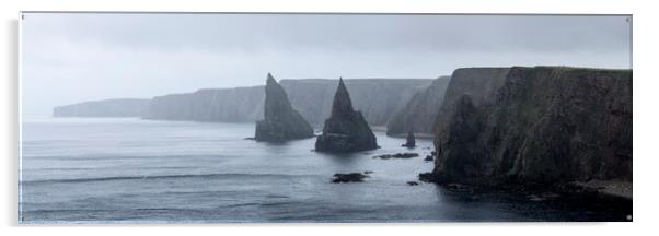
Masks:
[[[358,152],[378,149],[378,142],[371,128],[360,111],[352,108],[352,102],[343,79],[338,79],[338,87],[334,94],[332,114],[323,134],[315,141],[319,152]]]

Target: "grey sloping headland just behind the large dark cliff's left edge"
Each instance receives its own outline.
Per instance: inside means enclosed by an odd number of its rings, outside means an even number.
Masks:
[[[444,98],[450,76],[441,76],[425,90],[414,93],[386,123],[388,135],[401,135],[409,131],[432,133],[432,127]]]

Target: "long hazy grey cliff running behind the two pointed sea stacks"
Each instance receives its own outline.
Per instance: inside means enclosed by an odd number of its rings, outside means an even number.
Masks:
[[[416,87],[427,86],[423,79],[356,79],[345,84],[352,102],[371,126],[384,126],[392,114],[405,104]],[[281,80],[290,103],[314,127],[330,116],[336,81]],[[190,94],[154,97],[144,118],[254,122],[263,119],[264,86],[200,90]]]

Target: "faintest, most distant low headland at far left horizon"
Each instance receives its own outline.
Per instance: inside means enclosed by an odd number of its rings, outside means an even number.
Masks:
[[[53,108],[54,117],[141,117],[150,99],[104,99]]]

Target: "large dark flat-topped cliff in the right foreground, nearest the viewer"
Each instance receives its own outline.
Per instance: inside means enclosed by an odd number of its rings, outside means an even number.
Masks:
[[[436,122],[436,181],[632,180],[632,71],[481,72],[453,73]]]

